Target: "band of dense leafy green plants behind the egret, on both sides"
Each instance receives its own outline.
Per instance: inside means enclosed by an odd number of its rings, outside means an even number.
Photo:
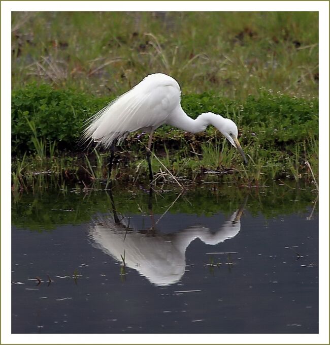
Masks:
[[[95,98],[72,89],[36,84],[13,91],[13,154],[35,152],[36,138],[53,145],[56,142],[55,149],[58,150],[83,150],[79,139],[84,121],[113,98]],[[315,98],[300,99],[265,90],[261,96],[250,96],[241,104],[204,92],[183,95],[182,107],[192,118],[212,111],[233,119],[238,124],[242,145],[254,145],[263,150],[292,151],[296,143],[317,139],[318,136],[318,100]],[[35,133],[32,133],[28,121],[35,127]],[[170,143],[169,147],[171,141],[182,146],[189,136],[184,131],[163,126],[155,132],[155,147],[163,140]],[[201,140],[214,137],[221,135],[212,127],[206,134],[196,135]],[[137,142],[135,135],[128,140],[133,144]]]

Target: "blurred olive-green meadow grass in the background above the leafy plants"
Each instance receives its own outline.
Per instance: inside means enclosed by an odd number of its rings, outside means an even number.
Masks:
[[[118,96],[150,73],[183,94],[318,95],[317,12],[13,12],[12,86]]]

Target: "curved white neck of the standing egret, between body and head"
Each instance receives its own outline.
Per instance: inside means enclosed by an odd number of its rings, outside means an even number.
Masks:
[[[220,130],[223,121],[224,118],[221,115],[210,112],[203,113],[196,119],[192,119],[183,111],[181,106],[178,106],[167,118],[166,123],[186,132],[199,133],[204,132],[209,124]]]

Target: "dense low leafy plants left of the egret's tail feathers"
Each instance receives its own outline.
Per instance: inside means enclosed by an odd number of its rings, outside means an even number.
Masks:
[[[29,84],[12,93],[12,152],[35,152],[34,124],[39,140],[57,143],[59,150],[76,150],[84,124],[109,99],[90,97],[72,89]]]

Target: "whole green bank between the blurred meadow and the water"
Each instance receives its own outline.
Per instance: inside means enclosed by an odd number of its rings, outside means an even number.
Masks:
[[[129,135],[118,148],[111,176],[107,172],[109,152],[80,143],[84,121],[108,102],[106,98],[47,85],[31,84],[13,91],[15,189],[23,181],[30,185],[36,176],[46,175],[56,175],[59,181],[60,176],[92,182],[143,178],[147,171],[148,134]],[[263,90],[259,97],[249,96],[238,102],[204,92],[183,95],[182,106],[193,118],[212,111],[233,119],[249,165],[241,164],[241,156],[215,128],[193,135],[162,126],[154,134],[152,156],[153,170],[156,176],[159,173],[160,180],[170,173],[197,181],[210,170],[221,175],[233,173],[244,184],[259,184],[269,178],[317,179],[317,99],[292,98]]]

